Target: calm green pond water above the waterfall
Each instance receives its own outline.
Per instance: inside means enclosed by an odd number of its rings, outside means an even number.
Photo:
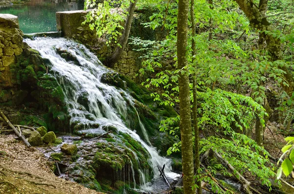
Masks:
[[[81,2],[30,0],[24,4],[0,5],[1,14],[19,17],[20,28],[27,33],[56,31],[55,12],[83,9]]]

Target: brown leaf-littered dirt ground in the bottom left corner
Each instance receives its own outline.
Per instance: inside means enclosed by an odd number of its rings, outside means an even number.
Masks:
[[[56,177],[43,153],[14,137],[0,136],[0,194],[103,194]]]

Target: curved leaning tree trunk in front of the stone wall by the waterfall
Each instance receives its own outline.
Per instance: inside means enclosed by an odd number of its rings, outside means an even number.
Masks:
[[[123,53],[123,50],[127,44],[127,40],[131,31],[131,26],[134,18],[134,11],[136,8],[136,3],[138,0],[130,0],[130,5],[128,8],[128,14],[124,23],[124,29],[123,29],[123,34],[120,38],[119,44],[122,46],[117,46],[115,51],[107,57],[106,61],[104,64],[108,67],[113,68],[114,64],[118,62],[118,60],[121,58],[121,55]]]

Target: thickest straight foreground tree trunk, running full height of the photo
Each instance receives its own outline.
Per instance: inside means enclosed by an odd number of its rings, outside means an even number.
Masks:
[[[195,194],[193,135],[191,128],[190,87],[187,52],[189,0],[179,0],[177,16],[177,60],[179,73],[180,130],[182,141],[183,184],[185,194]],[[194,189],[193,189],[194,188]]]

